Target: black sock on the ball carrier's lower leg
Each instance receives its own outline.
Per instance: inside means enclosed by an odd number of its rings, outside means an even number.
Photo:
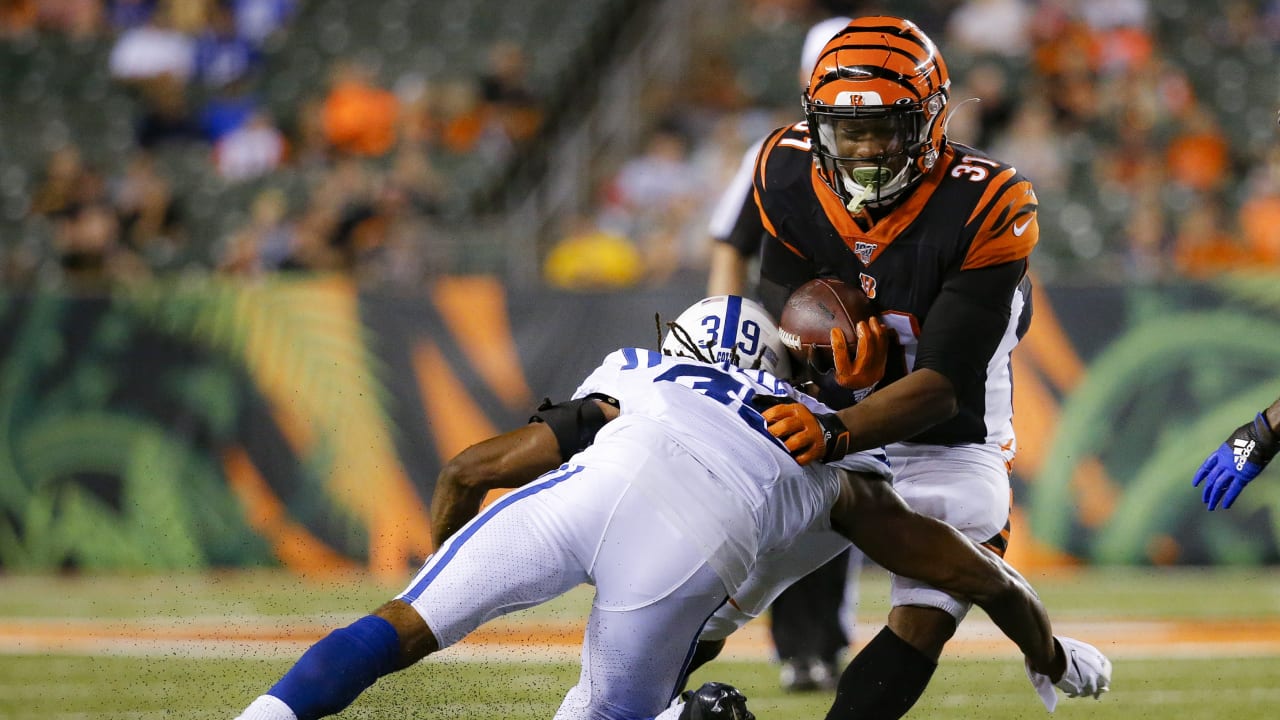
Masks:
[[[883,628],[845,667],[827,720],[897,720],[920,700],[937,666]]]

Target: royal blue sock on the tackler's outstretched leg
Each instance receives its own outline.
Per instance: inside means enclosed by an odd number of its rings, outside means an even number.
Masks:
[[[298,720],[324,717],[394,671],[398,659],[396,628],[366,615],[311,646],[268,694],[289,706]]]

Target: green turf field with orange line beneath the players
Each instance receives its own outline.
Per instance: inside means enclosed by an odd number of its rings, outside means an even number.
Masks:
[[[1096,633],[1079,634],[1115,661],[1111,693],[1101,701],[1064,700],[1055,716],[1277,716],[1280,651],[1253,641],[1275,634],[1280,624],[1280,573],[1139,569],[1032,579],[1057,623]],[[864,573],[861,629],[874,630],[886,607],[884,587],[883,574]],[[233,717],[289,666],[306,638],[219,643],[220,633],[243,637],[246,626],[297,625],[314,633],[346,624],[397,589],[398,584],[360,579],[303,582],[278,573],[0,577],[0,717]],[[572,624],[586,602],[586,593],[572,593],[522,614],[512,625]],[[1180,620],[1184,629],[1236,626],[1244,632],[1220,634],[1203,647],[1183,638],[1180,644],[1171,642],[1166,652],[1161,638],[1143,635],[1142,628],[1149,620],[1170,619]],[[970,620],[974,625],[984,621],[978,611]],[[41,644],[59,633],[99,637],[100,628],[115,629],[100,647],[50,650]],[[142,639],[132,639],[131,628]],[[1260,630],[1249,633],[1249,628]],[[1146,644],[1130,650],[1112,637]],[[571,653],[572,648],[544,652],[534,646],[498,650],[483,661],[460,661],[447,651],[440,660],[429,659],[383,679],[342,717],[550,717],[577,675],[576,662],[564,660]],[[741,660],[744,656],[748,659]],[[737,684],[760,720],[824,716],[829,697],[781,694],[772,664],[750,656],[750,650],[740,651],[735,660],[713,662],[695,682]],[[1050,716],[1012,653],[970,650],[943,659],[910,717]]]

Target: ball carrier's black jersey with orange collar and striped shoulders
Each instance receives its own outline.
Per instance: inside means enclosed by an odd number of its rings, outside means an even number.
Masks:
[[[765,141],[754,190],[771,313],[814,277],[858,283],[901,348],[881,387],[920,368],[955,386],[959,414],[911,441],[1012,447],[1010,352],[1030,322],[1027,259],[1039,238],[1030,181],[948,143],[891,209],[850,214],[817,174],[808,127],[799,123]]]

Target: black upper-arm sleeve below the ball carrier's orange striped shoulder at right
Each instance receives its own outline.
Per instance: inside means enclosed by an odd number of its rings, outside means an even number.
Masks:
[[[963,270],[946,281],[920,332],[914,369],[941,373],[956,395],[980,388],[1009,329],[1014,292],[1025,273],[1027,260],[1015,260]]]

